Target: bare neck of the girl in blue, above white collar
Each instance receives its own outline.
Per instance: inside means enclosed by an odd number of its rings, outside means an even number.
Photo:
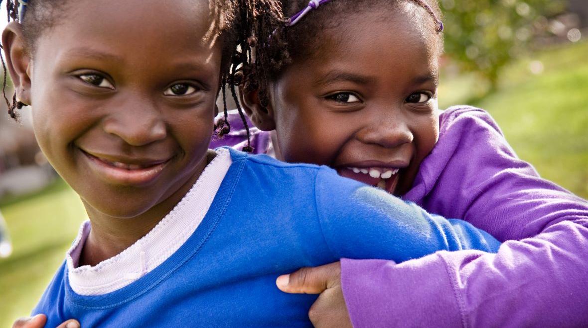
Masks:
[[[216,152],[209,150],[206,160],[199,164],[196,174],[185,182],[180,188],[180,192],[155,205],[145,214],[135,218],[111,218],[96,212],[92,207],[86,205],[86,211],[92,229],[86,239],[79,258],[79,266],[91,265],[105,261],[118,255],[143,236],[148,234],[155,226],[167,215],[176,204],[183,198],[186,193],[196,183],[196,180],[202,174],[202,171],[216,156]],[[83,201],[83,200],[82,200]]]

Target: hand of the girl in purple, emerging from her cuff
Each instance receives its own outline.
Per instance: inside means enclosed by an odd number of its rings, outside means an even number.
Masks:
[[[341,263],[316,268],[302,268],[279,276],[276,285],[282,292],[319,294],[310,307],[308,317],[315,327],[352,327],[341,288]]]

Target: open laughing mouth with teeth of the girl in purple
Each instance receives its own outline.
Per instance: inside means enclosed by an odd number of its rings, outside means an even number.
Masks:
[[[342,177],[383,189],[390,194],[396,190],[400,168],[390,167],[345,167],[337,172]]]

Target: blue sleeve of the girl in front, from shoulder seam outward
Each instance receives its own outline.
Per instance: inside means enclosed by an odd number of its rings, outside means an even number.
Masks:
[[[442,250],[496,252],[500,246],[465,221],[429,214],[328,168],[317,176],[316,202],[326,242],[339,258],[402,262]]]

